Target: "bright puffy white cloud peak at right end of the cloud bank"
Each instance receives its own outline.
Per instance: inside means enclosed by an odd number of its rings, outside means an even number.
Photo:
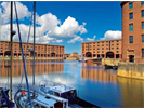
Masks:
[[[75,18],[68,16],[62,25],[53,27],[48,35],[55,38],[70,39],[78,32],[81,35],[86,33],[87,29],[84,28],[84,25],[86,23],[79,25]]]

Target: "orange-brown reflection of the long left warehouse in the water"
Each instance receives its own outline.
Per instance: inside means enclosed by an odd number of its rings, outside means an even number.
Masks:
[[[5,67],[5,60],[1,60],[0,76],[8,77],[11,67]],[[45,63],[44,63],[45,62]],[[47,63],[48,60],[36,60],[35,75],[41,75],[47,72],[63,72],[64,64]],[[50,60],[49,60],[50,62]],[[32,60],[26,60],[27,75],[32,75]],[[12,73],[13,76],[22,76],[23,72],[23,60],[13,60]]]

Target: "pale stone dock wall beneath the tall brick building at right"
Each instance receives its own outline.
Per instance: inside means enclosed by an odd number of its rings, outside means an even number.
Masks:
[[[120,62],[118,64],[117,76],[134,79],[144,79],[144,64]]]

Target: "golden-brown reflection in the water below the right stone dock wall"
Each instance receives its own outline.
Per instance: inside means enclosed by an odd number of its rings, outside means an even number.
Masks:
[[[144,80],[117,77],[122,108],[144,108]]]

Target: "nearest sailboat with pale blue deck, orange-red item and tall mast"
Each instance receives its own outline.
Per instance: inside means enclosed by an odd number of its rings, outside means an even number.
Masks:
[[[34,2],[34,5],[36,5],[36,1]],[[16,13],[16,4],[15,4],[15,13]],[[17,13],[16,13],[16,17],[17,17]],[[35,15],[34,15],[34,19],[35,19]],[[18,21],[17,21],[17,28],[18,28]],[[34,30],[35,30],[35,24],[34,24]],[[34,83],[32,83],[34,86],[29,87],[26,67],[25,67],[25,58],[24,58],[24,53],[23,53],[23,48],[22,48],[19,28],[18,28],[18,35],[19,35],[21,50],[23,54],[23,65],[24,65],[24,70],[25,70],[27,89],[18,86],[18,90],[14,95],[14,100],[15,100],[16,106],[18,108],[41,108],[41,107],[42,108],[43,107],[44,108],[68,108],[67,99],[56,97],[51,94],[43,94],[35,89],[35,71],[34,71]],[[34,31],[34,40],[35,40],[35,31]],[[35,41],[34,41],[34,52],[35,52]],[[35,53],[34,53],[34,59],[35,59]]]

